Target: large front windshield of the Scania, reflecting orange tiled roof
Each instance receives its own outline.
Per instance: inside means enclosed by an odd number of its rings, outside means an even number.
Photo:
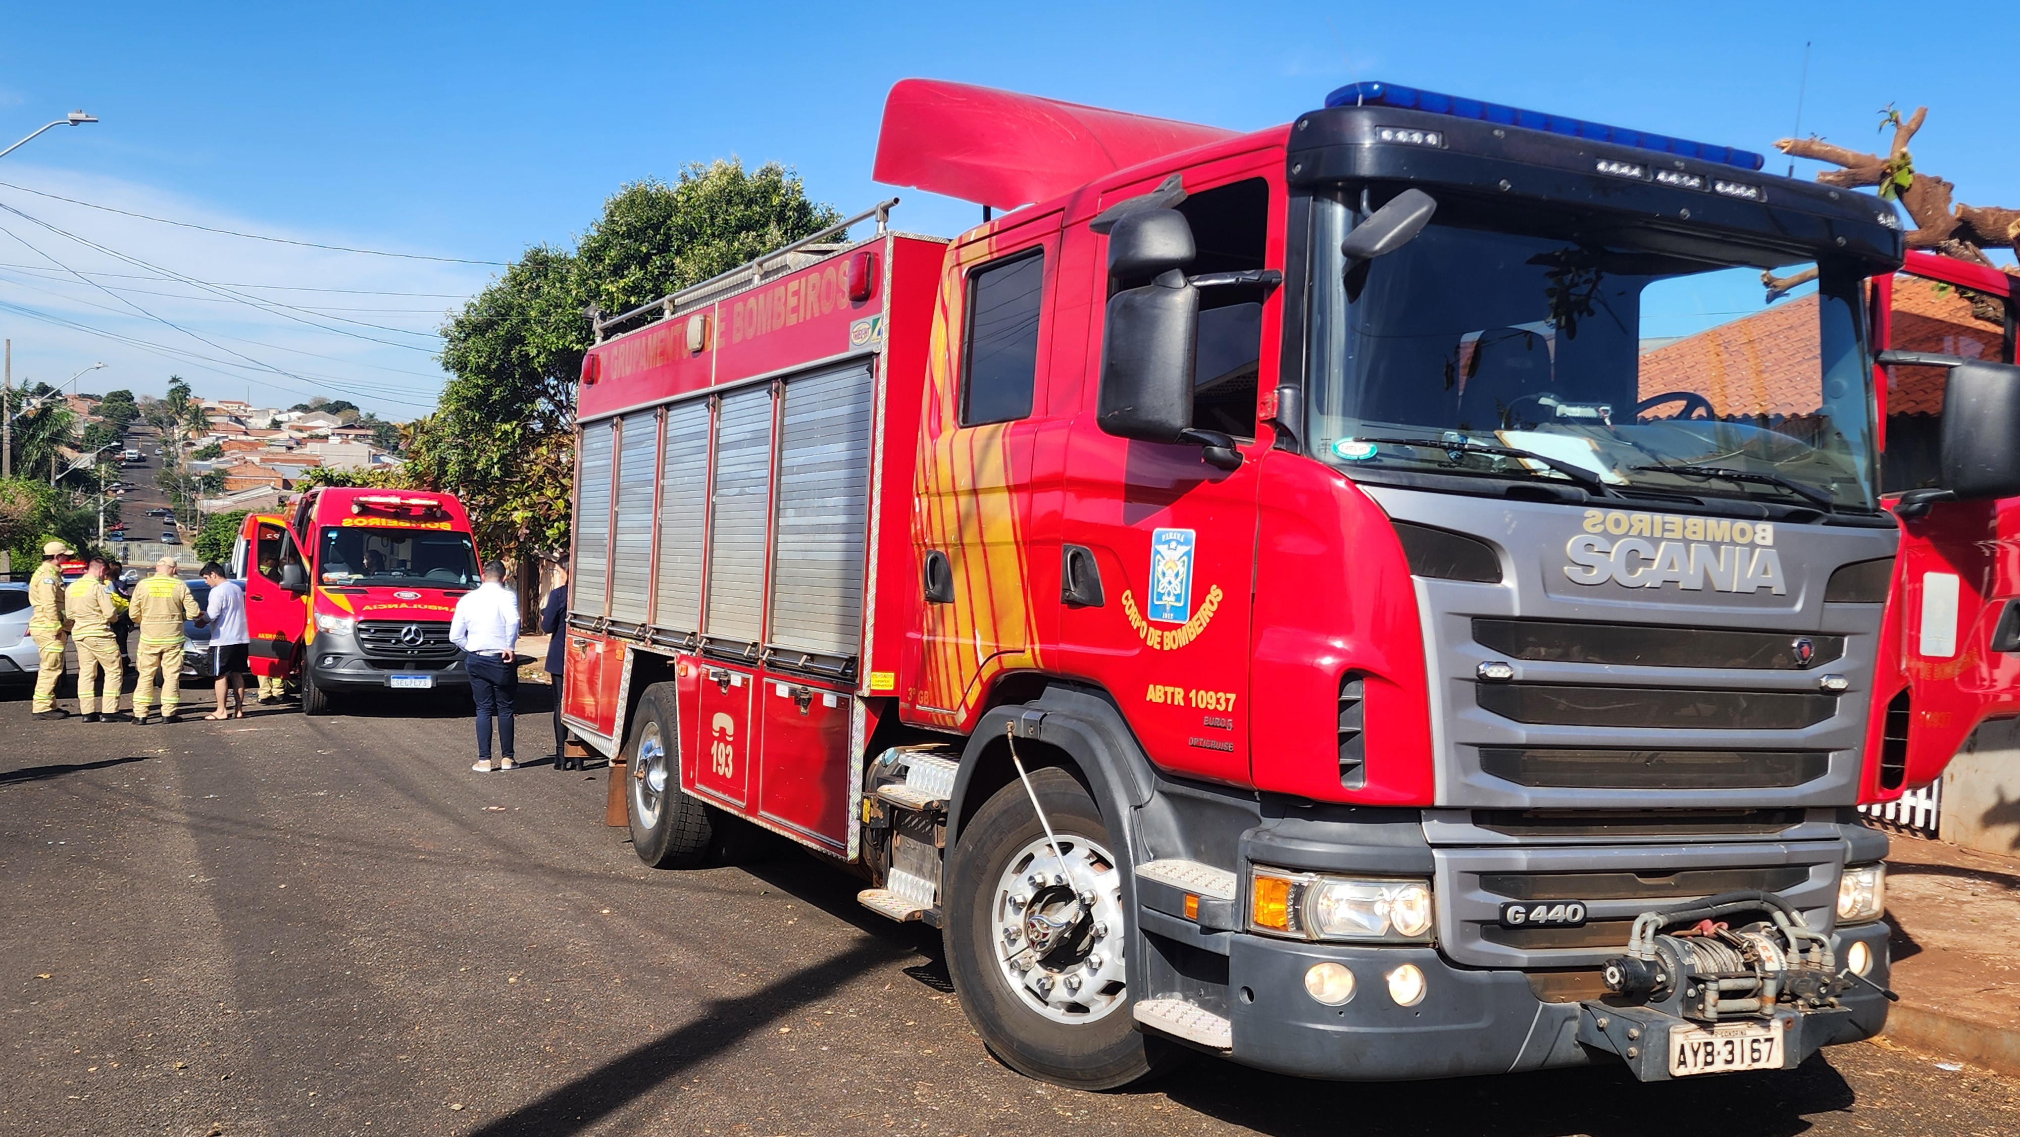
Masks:
[[[1349,267],[1353,208],[1315,202],[1315,454],[1875,509],[1858,277],[1535,214],[1440,202],[1412,242]]]

